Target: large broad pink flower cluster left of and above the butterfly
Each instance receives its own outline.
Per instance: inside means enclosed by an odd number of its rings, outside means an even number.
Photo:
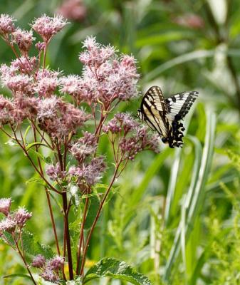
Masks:
[[[118,58],[115,48],[103,46],[88,37],[83,42],[85,51],[79,59],[84,65],[83,76],[67,76],[61,79],[62,93],[75,98],[76,103],[97,103],[105,109],[113,100],[129,100],[137,95],[137,68],[132,56]]]

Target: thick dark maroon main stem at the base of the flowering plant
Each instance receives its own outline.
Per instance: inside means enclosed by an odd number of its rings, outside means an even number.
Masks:
[[[68,270],[69,270],[69,277],[70,280],[73,280],[73,260],[72,260],[72,252],[71,252],[71,239],[69,234],[69,227],[68,227],[68,199],[67,193],[62,193],[63,197],[63,211],[64,211],[64,236],[66,240],[67,252],[68,252]]]

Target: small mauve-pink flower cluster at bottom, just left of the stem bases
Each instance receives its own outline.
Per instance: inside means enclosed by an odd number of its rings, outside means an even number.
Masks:
[[[63,266],[63,264],[63,257],[56,256],[46,260],[45,257],[43,257],[41,254],[38,254],[36,257],[33,257],[31,266],[41,269],[40,276],[43,277],[44,280],[58,284],[58,281],[60,280],[58,271],[61,269],[61,266]]]

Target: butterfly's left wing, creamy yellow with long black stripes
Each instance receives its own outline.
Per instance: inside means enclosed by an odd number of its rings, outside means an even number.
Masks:
[[[159,133],[161,138],[167,138],[169,128],[167,115],[167,105],[162,95],[162,90],[158,86],[152,86],[142,98],[140,107],[142,120],[147,125]]]

